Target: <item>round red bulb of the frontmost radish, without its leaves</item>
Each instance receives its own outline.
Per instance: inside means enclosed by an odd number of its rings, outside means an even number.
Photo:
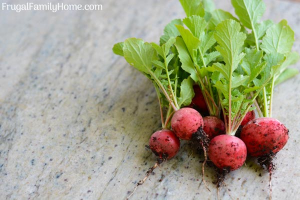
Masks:
[[[246,156],[246,145],[236,136],[221,134],[210,140],[208,157],[220,169],[238,169]]]

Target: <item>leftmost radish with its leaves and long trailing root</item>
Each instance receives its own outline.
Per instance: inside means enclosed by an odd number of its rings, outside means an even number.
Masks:
[[[181,107],[190,104],[194,92],[192,78],[179,78],[178,76],[180,65],[176,58],[177,52],[173,47],[175,40],[175,37],[171,36],[165,43],[158,45],[144,42],[142,39],[128,38],[113,47],[116,54],[124,56],[130,65],[142,72],[153,83],[158,97],[162,126],[162,130],[154,132],[149,141],[150,149],[158,156],[157,161],[147,170],[146,176],[137,183],[128,197],[163,160],[173,157],[179,149],[179,138],[173,131],[167,129],[170,129],[172,115]],[[193,132],[203,125],[203,119],[199,113],[198,115],[196,120],[199,121],[195,129],[192,129]],[[181,134],[185,133],[181,132]]]

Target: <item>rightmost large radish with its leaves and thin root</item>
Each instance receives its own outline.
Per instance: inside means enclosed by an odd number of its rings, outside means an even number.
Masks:
[[[234,1],[233,6],[235,5],[235,10],[239,10],[236,12],[239,18],[243,17],[244,11],[248,11],[250,7],[254,7],[249,4],[250,1],[246,3],[245,1],[240,3],[238,0],[232,1]],[[263,3],[262,0],[257,2],[260,4]],[[245,6],[246,4],[250,5],[250,7]],[[242,6],[244,6],[244,10],[240,12],[240,7]],[[255,5],[255,7],[258,7],[258,4]],[[262,13],[263,12],[261,12],[261,15]],[[253,35],[257,33],[258,29],[255,27],[257,27],[256,25],[259,23],[259,21],[248,23],[252,25],[252,27],[248,28],[251,28]],[[257,161],[262,167],[265,166],[269,172],[269,199],[271,199],[271,174],[274,169],[272,160],[275,153],[285,145],[288,139],[287,128],[279,121],[269,117],[272,117],[274,86],[278,82],[292,77],[298,72],[298,70],[288,70],[288,68],[286,68],[289,64],[296,62],[298,59],[298,55],[291,52],[293,41],[293,30],[287,24],[286,20],[281,20],[267,28],[261,38],[255,39],[254,43],[256,49],[251,53],[251,56],[259,55],[261,60],[265,63],[265,68],[259,71],[259,79],[256,79],[255,83],[266,81],[266,84],[263,85],[262,90],[258,93],[253,103],[256,106],[259,117],[266,118],[254,119],[252,122],[248,122],[245,125],[246,127],[242,129],[241,138],[246,143],[249,154],[258,156]],[[245,62],[245,64],[241,65],[243,65],[242,67],[246,67],[246,65],[250,63],[253,62]],[[255,70],[255,68],[256,67],[253,67],[253,70]]]

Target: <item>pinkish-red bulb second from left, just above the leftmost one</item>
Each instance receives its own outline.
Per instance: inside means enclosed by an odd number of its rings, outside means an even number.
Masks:
[[[171,127],[180,139],[189,140],[199,127],[203,127],[203,118],[197,110],[183,107],[173,114]]]

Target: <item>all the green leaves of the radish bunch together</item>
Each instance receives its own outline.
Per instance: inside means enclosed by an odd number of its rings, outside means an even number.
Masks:
[[[191,102],[192,84],[203,93],[209,114],[223,111],[226,133],[234,134],[255,104],[270,116],[274,85],[297,74],[287,68],[299,55],[291,52],[294,33],[286,20],[260,21],[262,0],[231,0],[235,18],[214,9],[212,0],[179,0],[186,17],[170,21],[159,45],[128,38],[113,51],[148,77],[156,88],[167,127],[174,110]]]

